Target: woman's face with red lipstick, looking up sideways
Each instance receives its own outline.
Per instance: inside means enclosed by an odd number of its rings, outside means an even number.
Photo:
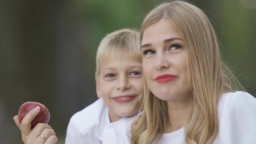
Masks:
[[[184,41],[170,20],[149,26],[141,40],[143,73],[150,91],[164,101],[187,98],[189,88]]]

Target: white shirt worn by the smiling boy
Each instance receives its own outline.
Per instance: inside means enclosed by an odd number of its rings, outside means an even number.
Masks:
[[[118,129],[122,128],[120,124],[129,124],[119,121],[110,123],[108,108],[100,98],[72,116],[67,128],[65,144],[120,144],[118,141],[121,139],[114,129],[125,131]]]

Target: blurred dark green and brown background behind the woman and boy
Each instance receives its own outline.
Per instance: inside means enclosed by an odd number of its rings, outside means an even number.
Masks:
[[[49,109],[64,144],[69,118],[97,99],[95,55],[113,30],[140,28],[162,0],[0,0],[0,144],[22,144],[26,101]],[[190,0],[209,16],[223,57],[256,96],[256,0]],[[88,116],[90,117],[90,116]]]

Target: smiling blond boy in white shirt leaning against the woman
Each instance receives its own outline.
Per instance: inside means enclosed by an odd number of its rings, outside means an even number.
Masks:
[[[138,112],[143,83],[141,64],[138,32],[121,29],[102,39],[95,72],[99,99],[72,116],[66,144],[111,143],[115,123]]]

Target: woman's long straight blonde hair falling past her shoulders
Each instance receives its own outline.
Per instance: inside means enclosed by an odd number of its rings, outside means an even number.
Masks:
[[[218,40],[202,10],[183,1],[162,3],[145,17],[141,36],[161,19],[174,24],[187,50],[193,110],[185,126],[187,144],[211,144],[218,134],[220,96],[243,87],[221,61]],[[131,128],[131,144],[157,143],[169,124],[167,102],[152,94],[144,79],[143,114]]]

